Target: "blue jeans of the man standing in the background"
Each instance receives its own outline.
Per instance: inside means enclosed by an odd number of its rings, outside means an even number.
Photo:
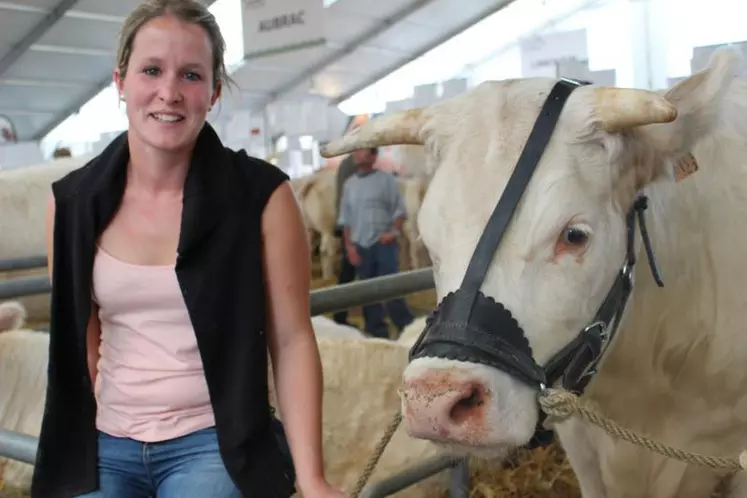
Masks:
[[[376,242],[371,247],[361,247],[356,245],[358,255],[361,257],[361,264],[356,268],[358,277],[366,280],[374,277],[383,277],[399,272],[399,244],[382,244]],[[410,308],[404,299],[392,299],[384,303],[369,304],[363,306],[363,320],[365,321],[365,331],[374,337],[382,339],[389,338],[389,329],[384,321],[384,308],[389,312],[389,318],[397,327],[399,332],[410,325],[415,319]]]

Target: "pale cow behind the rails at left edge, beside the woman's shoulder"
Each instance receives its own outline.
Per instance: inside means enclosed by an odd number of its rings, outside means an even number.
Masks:
[[[45,212],[51,184],[83,166],[92,156],[59,158],[50,162],[0,171],[0,260],[46,254]],[[0,278],[46,276],[46,269],[18,270]],[[31,321],[49,320],[49,295],[19,298]]]

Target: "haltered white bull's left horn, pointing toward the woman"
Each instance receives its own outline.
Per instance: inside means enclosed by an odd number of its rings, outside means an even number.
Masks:
[[[423,111],[423,108],[414,108],[374,118],[344,137],[328,142],[319,153],[322,157],[335,157],[367,147],[423,145],[420,136],[425,121]]]

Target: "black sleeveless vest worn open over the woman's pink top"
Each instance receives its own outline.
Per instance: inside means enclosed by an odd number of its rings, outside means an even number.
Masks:
[[[96,400],[86,324],[96,241],[125,187],[127,133],[55,182],[48,388],[32,498],[97,488]],[[176,275],[189,311],[215,413],[221,456],[249,498],[287,498],[292,468],[273,432],[261,216],[288,176],[201,130],[184,186]]]

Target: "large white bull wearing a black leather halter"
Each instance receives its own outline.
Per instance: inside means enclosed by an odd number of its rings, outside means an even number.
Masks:
[[[634,431],[719,456],[747,447],[747,82],[735,79],[739,64],[736,51],[722,50],[667,91],[574,90],[481,288],[511,311],[534,361],[546,364],[591,323],[625,258],[626,213],[644,192],[665,286],[652,279],[637,234],[633,295],[583,399]],[[434,177],[418,223],[439,300],[460,287],[555,83],[486,82],[370,121],[322,151],[425,145]],[[675,169],[688,153],[699,171],[683,179]],[[404,424],[453,451],[501,458],[533,434],[536,394],[485,365],[416,359],[403,377]],[[576,419],[556,430],[584,498],[704,498],[723,474]],[[739,495],[737,484],[729,496]]]

